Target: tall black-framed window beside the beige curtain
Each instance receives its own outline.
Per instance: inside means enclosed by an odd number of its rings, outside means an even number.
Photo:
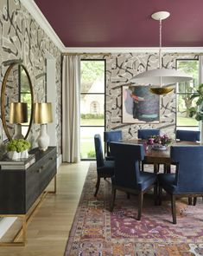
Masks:
[[[80,158],[95,159],[94,135],[105,131],[105,60],[81,60]]]

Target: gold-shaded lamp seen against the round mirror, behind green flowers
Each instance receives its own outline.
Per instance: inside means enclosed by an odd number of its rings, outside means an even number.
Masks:
[[[10,103],[10,123],[15,124],[13,139],[23,139],[22,123],[28,121],[28,105],[25,102]]]

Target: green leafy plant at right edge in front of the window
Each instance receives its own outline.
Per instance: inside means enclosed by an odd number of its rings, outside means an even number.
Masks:
[[[196,92],[190,96],[191,100],[195,98],[197,98],[196,106],[189,108],[189,116],[194,116],[197,121],[201,122],[201,141],[203,141],[203,83],[201,83]]]

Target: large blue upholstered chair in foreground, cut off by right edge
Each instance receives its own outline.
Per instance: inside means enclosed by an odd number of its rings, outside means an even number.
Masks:
[[[203,146],[172,146],[171,160],[175,174],[158,174],[159,197],[162,188],[171,195],[173,223],[176,224],[175,199],[203,195]]]

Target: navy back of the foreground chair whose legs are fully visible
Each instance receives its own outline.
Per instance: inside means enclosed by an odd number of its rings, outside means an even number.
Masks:
[[[140,181],[139,161],[144,158],[143,145],[110,143],[115,161],[112,182],[120,187],[135,187]]]

